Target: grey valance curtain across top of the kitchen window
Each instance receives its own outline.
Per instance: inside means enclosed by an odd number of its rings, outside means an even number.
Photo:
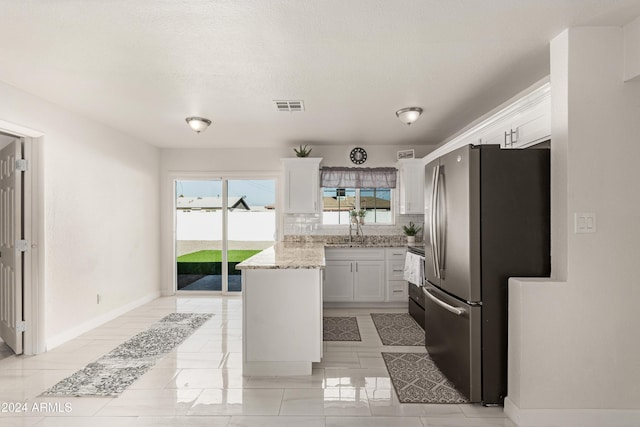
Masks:
[[[396,188],[396,168],[323,167],[320,186],[329,188]]]

